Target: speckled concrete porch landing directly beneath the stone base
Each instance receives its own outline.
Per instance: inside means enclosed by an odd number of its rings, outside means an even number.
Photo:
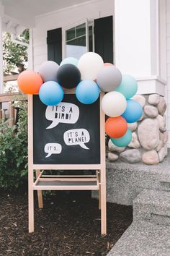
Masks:
[[[168,156],[158,165],[107,161],[107,202],[133,205],[143,189],[170,192],[170,149]],[[97,198],[98,193],[92,192]]]

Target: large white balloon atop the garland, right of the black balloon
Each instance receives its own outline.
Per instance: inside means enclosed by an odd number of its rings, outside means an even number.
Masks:
[[[96,80],[97,74],[103,67],[104,62],[99,54],[89,52],[82,55],[78,62],[81,80]]]

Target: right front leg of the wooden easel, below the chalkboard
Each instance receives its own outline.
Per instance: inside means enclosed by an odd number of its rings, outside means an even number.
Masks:
[[[106,181],[105,172],[101,170],[101,234],[107,234],[107,210],[106,210]]]

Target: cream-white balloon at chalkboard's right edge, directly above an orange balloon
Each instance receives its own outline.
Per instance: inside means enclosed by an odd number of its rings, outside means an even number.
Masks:
[[[109,92],[102,98],[102,110],[107,116],[121,116],[127,107],[127,101],[122,93]]]

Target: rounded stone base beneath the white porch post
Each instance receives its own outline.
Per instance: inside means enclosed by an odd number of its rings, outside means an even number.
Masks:
[[[166,101],[158,94],[135,95],[133,99],[143,107],[143,116],[138,122],[128,124],[133,132],[128,147],[119,148],[109,140],[108,159],[127,163],[160,163],[167,155]]]

